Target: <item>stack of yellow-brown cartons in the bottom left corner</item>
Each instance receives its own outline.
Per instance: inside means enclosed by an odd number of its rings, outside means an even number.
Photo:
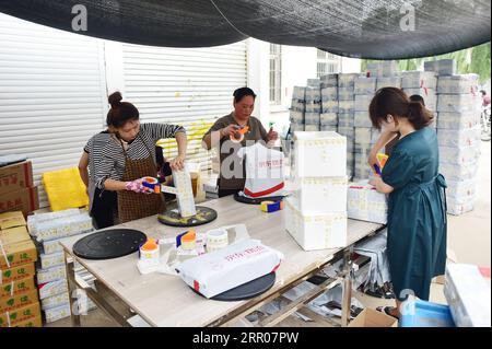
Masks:
[[[23,212],[0,213],[0,327],[40,327],[36,247]]]

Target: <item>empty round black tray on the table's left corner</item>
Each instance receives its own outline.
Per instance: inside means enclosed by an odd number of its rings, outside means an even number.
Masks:
[[[145,241],[145,234],[138,230],[108,229],[79,240],[73,253],[84,259],[113,259],[139,251]]]

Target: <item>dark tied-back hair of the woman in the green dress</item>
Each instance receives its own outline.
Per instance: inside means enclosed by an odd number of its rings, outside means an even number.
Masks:
[[[421,102],[410,101],[407,94],[397,88],[379,89],[371,101],[370,117],[375,128],[380,129],[388,115],[407,118],[417,130],[429,126],[434,118]]]

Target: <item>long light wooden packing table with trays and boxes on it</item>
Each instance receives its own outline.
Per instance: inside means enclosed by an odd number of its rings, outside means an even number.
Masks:
[[[70,257],[68,260],[77,259],[89,272],[96,277],[97,291],[85,288],[87,295],[122,326],[128,325],[127,318],[132,314],[128,309],[138,313],[152,326],[224,325],[232,319],[249,314],[306,280],[341,254],[345,259],[345,272],[342,279],[327,280],[318,287],[317,292],[309,292],[301,301],[290,304],[283,314],[274,314],[260,325],[271,326],[277,324],[307,304],[327,288],[333,287],[336,282],[340,281],[344,282],[344,290],[348,290],[343,296],[347,304],[343,309],[342,326],[348,324],[351,294],[350,254],[353,244],[379,231],[383,225],[349,220],[349,244],[345,248],[305,252],[285,231],[284,210],[263,213],[258,206],[236,202],[231,196],[201,205],[216,210],[219,217],[209,224],[197,226],[198,232],[204,233],[212,228],[244,223],[251,237],[261,240],[263,244],[283,253],[285,259],[277,270],[276,283],[269,291],[247,301],[220,302],[208,300],[196,294],[179,277],[156,272],[141,275],[137,269],[137,253],[108,260],[89,260],[74,256],[72,246],[78,240],[87,235],[84,234],[66,239],[61,244],[66,255]],[[148,236],[156,239],[173,237],[186,230],[163,225],[157,221],[156,216],[120,224],[118,228],[140,230]],[[70,289],[73,291],[78,286],[74,282],[71,263],[68,263],[68,277]],[[74,294],[74,292],[71,292],[72,296],[77,296]],[[112,300],[116,300],[116,303],[113,302],[114,304],[112,304]],[[75,326],[80,325],[80,317],[77,314],[72,314],[72,323]]]

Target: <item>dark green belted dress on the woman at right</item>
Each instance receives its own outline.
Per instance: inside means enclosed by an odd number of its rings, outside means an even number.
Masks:
[[[446,181],[438,174],[435,130],[425,127],[395,146],[382,174],[388,200],[387,255],[399,300],[429,300],[431,280],[446,266]]]

